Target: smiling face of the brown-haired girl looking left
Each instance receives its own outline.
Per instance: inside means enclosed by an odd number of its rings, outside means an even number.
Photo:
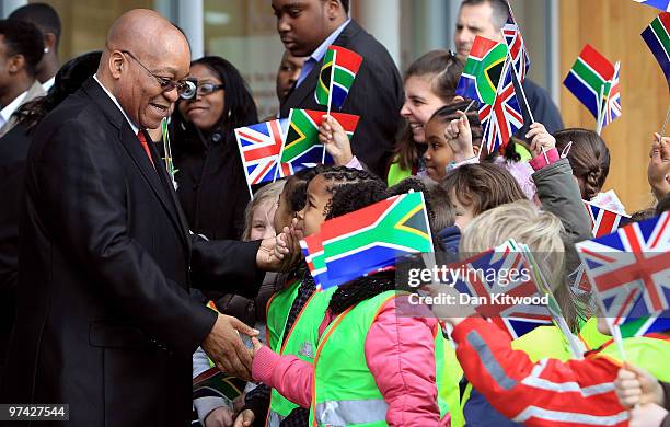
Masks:
[[[432,78],[429,76],[412,76],[405,81],[405,103],[401,116],[407,119],[415,142],[426,142],[424,126],[444,102],[432,92]]]

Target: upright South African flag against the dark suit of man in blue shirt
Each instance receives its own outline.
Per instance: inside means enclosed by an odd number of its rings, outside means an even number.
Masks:
[[[362,57],[340,46],[328,46],[316,82],[314,99],[319,105],[331,105],[340,109],[354,84]]]

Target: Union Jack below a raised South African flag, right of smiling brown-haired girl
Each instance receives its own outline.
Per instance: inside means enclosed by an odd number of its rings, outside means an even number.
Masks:
[[[509,62],[505,64],[503,76],[504,86],[496,95],[494,105],[483,104],[480,108],[480,120],[484,128],[482,145],[489,154],[505,148],[512,135],[523,127],[523,115],[515,93]]]

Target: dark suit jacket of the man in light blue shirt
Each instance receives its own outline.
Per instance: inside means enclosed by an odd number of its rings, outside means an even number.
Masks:
[[[356,80],[342,106],[342,113],[360,116],[351,139],[351,150],[370,171],[384,176],[402,123],[400,111],[404,102],[403,80],[386,48],[354,20],[333,44],[363,57]],[[280,117],[288,117],[290,108],[325,112],[326,108],[314,100],[320,71],[321,62],[314,66],[302,83],[281,103]]]

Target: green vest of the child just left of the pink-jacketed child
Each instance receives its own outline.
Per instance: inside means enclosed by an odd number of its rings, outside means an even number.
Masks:
[[[293,355],[301,360],[312,363],[314,361],[316,345],[319,344],[319,326],[325,316],[331,296],[336,289],[336,287],[333,287],[322,292],[312,292],[302,310],[298,313],[291,330],[284,331],[270,348],[279,355]],[[289,310],[291,304],[289,304]],[[286,320],[285,318],[285,326]],[[284,334],[288,334],[286,339],[284,339]],[[284,344],[281,344],[282,342]],[[266,425],[279,426],[279,423],[297,407],[298,405],[279,394],[277,390],[273,389],[270,392],[270,405]]]

